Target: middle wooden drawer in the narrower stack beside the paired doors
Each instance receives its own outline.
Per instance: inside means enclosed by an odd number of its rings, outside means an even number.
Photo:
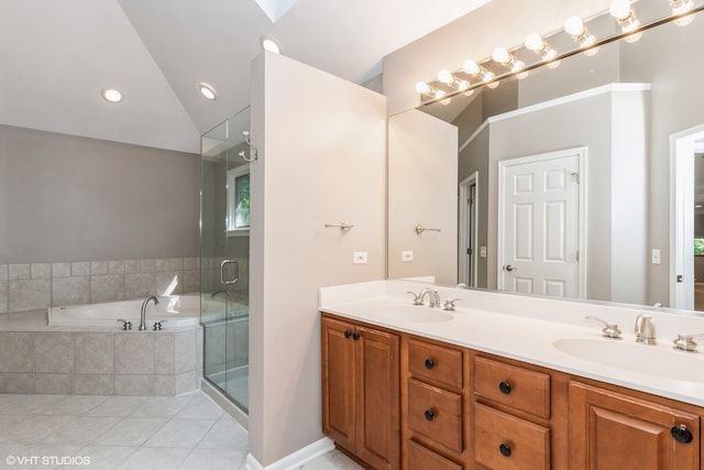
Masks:
[[[462,397],[432,385],[408,381],[408,426],[438,444],[462,451]]]

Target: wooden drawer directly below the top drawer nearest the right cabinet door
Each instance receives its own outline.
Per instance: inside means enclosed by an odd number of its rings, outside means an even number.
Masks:
[[[550,469],[550,429],[474,405],[474,459],[502,470]]]

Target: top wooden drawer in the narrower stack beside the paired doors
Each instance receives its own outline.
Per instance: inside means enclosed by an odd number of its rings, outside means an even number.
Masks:
[[[417,339],[408,340],[408,370],[419,379],[462,389],[462,352]]]

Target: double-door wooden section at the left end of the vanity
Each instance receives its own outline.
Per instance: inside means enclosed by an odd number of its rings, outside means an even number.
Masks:
[[[374,469],[400,459],[399,337],[323,316],[322,430]]]

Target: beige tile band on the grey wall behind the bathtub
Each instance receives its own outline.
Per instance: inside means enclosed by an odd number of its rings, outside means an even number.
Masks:
[[[200,291],[200,259],[0,264],[0,314]]]

